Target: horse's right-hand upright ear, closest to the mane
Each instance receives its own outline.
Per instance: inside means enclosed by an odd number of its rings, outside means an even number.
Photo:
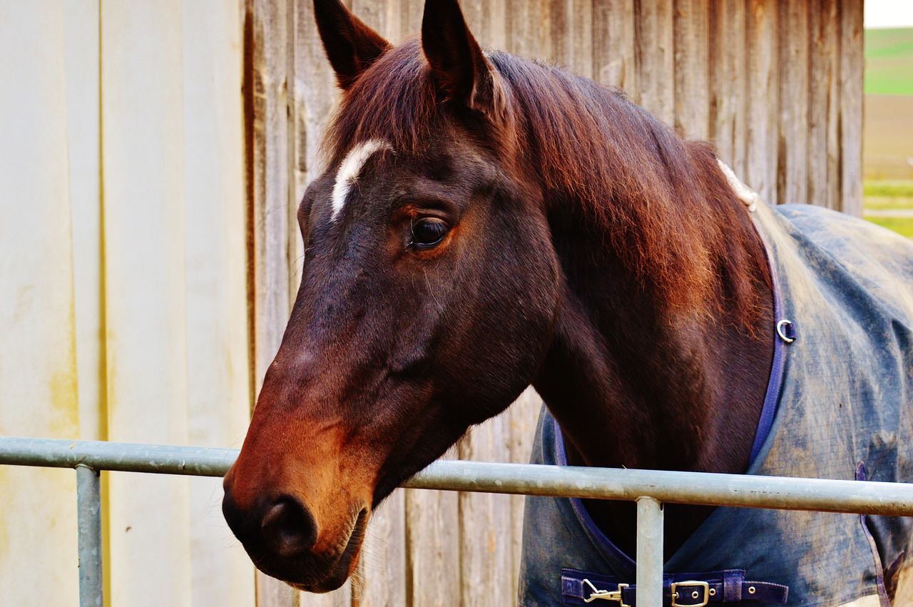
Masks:
[[[472,36],[456,0],[426,0],[422,48],[444,99],[490,112],[498,104],[498,74]]]

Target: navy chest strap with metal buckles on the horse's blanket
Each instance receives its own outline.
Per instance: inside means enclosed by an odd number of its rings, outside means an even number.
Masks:
[[[561,593],[566,605],[612,601],[618,603],[616,607],[634,607],[637,604],[636,588],[635,584],[625,584],[611,575],[561,570]],[[740,601],[785,604],[789,590],[789,586],[769,581],[747,581],[745,570],[741,569],[666,574],[663,576],[663,605],[704,607],[714,602]]]

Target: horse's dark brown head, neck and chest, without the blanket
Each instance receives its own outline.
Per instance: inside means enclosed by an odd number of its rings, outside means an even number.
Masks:
[[[257,567],[339,587],[373,508],[530,383],[572,464],[742,473],[771,272],[703,142],[618,90],[483,52],[456,0],[399,47],[315,0],[344,94],[303,276],[224,512]],[[635,549],[635,510],[587,503]],[[666,554],[709,509],[666,510]]]

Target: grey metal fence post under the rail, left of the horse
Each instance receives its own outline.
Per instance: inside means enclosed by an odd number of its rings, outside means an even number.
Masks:
[[[76,466],[79,519],[79,607],[101,607],[101,482],[99,473]]]

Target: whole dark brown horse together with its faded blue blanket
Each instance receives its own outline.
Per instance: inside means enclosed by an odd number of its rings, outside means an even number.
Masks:
[[[547,406],[534,461],[909,480],[907,241],[763,204],[710,144],[622,91],[483,51],[456,0],[428,0],[421,37],[395,47],[339,0],[314,12],[342,96],[327,171],[299,206],[298,296],[224,482],[226,520],[257,568],[299,590],[341,586],[373,509],[530,384]],[[873,240],[890,253],[847,274],[840,247],[863,264],[858,243]],[[826,311],[846,298],[868,308]],[[857,356],[860,340],[877,353]],[[848,361],[809,351],[822,344]],[[803,366],[819,379],[792,379]],[[894,425],[840,434],[878,413],[885,378]],[[786,404],[815,400],[824,408]],[[815,434],[824,426],[838,435]],[[887,601],[903,569],[905,522],[728,512],[747,511],[666,505],[666,569],[678,568],[666,592],[691,571],[714,602],[785,602],[787,586],[813,604]],[[592,601],[595,583],[633,602],[633,504],[530,497],[524,525],[520,602]],[[733,529],[736,556],[680,558]],[[819,579],[810,554],[852,583]]]

